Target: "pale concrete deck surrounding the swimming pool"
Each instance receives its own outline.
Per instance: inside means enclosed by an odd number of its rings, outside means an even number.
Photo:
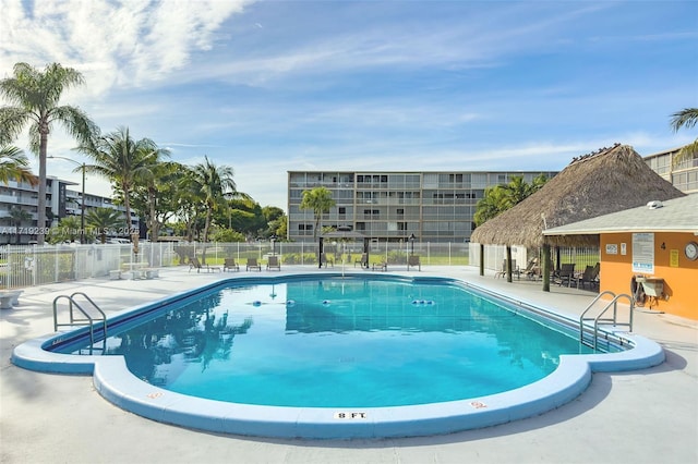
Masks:
[[[579,398],[541,416],[436,437],[286,440],[194,431],[118,408],[95,391],[91,376],[41,374],[10,363],[14,346],[52,332],[58,295],[83,291],[115,313],[237,274],[188,269],[160,269],[153,280],[27,288],[20,306],[0,310],[0,463],[698,463],[698,322],[642,309],[635,313],[635,333],[664,347],[664,364],[594,374]],[[282,267],[281,273],[301,270],[325,272]],[[545,293],[540,282],[507,283],[474,268],[423,266],[421,274],[462,278],[575,318],[595,296],[557,285]]]

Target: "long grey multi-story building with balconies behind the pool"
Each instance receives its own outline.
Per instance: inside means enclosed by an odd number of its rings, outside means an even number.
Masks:
[[[375,241],[468,242],[477,204],[488,187],[519,175],[528,183],[552,171],[373,172],[289,171],[288,239],[312,241],[315,218],[301,210],[303,191],[324,186],[336,206],[322,227],[347,227]]]

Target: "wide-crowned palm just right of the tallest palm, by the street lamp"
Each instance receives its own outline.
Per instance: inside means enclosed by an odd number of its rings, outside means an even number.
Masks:
[[[103,175],[111,181],[112,188],[123,198],[127,212],[127,231],[131,234],[131,192],[153,178],[153,170],[160,159],[169,156],[149,138],[134,141],[129,127],[119,127],[76,148],[95,163],[85,164],[85,171]]]

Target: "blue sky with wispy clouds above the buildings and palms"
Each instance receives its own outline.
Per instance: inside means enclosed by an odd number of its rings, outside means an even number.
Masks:
[[[128,126],[176,161],[230,166],[262,206],[286,209],[289,170],[562,170],[615,142],[646,156],[696,138],[670,127],[698,106],[696,1],[0,0],[0,76],[19,61],[75,68],[87,83],[63,101],[103,132]],[[74,146],[60,127],[49,139],[50,154],[82,162]],[[49,160],[49,174],[80,182],[72,169]],[[86,188],[110,193],[99,178]]]

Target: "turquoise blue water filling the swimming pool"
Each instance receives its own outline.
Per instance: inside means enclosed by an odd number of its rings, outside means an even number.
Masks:
[[[154,316],[110,333],[105,353],[123,355],[154,386],[231,403],[381,407],[481,398],[542,379],[561,354],[591,353],[455,282],[232,281]]]

